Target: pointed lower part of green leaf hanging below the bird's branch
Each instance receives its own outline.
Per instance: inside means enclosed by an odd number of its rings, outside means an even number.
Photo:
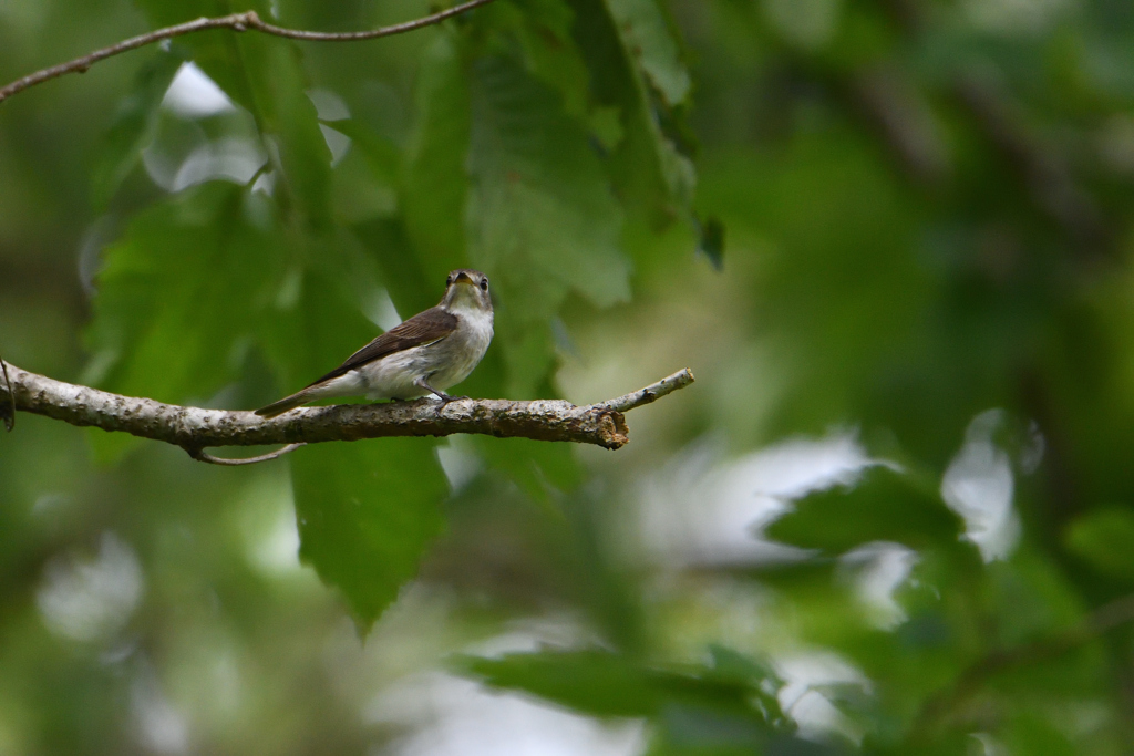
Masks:
[[[425,439],[324,443],[291,457],[299,557],[346,596],[363,631],[441,533],[448,487]]]

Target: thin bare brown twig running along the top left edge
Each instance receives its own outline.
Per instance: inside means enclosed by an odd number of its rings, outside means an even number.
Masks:
[[[146,46],[147,44],[153,44],[154,42],[171,40],[175,36],[184,36],[185,34],[193,34],[195,32],[204,32],[205,29],[228,28],[234,32],[253,31],[274,36],[282,36],[289,40],[306,40],[308,42],[356,42],[359,40],[375,40],[380,36],[390,36],[392,34],[404,34],[424,26],[439,24],[447,18],[463,14],[466,10],[472,10],[479,6],[485,6],[490,2],[492,2],[492,0],[468,0],[468,2],[462,2],[452,8],[424,16],[423,18],[395,24],[392,26],[383,26],[382,28],[370,29],[366,32],[333,33],[290,29],[260,20],[260,16],[257,16],[254,10],[247,10],[243,14],[219,16],[217,18],[198,18],[184,24],[177,24],[176,26],[167,26],[166,28],[146,32],[145,34],[122,40],[117,44],[110,45],[109,48],[95,50],[90,54],[76,58],[75,60],[70,60],[66,63],[59,63],[58,66],[52,66],[51,68],[44,68],[35,71],[34,74],[28,74],[23,78],[16,79],[3,88],[0,88],[0,102],[3,102],[17,92],[23,92],[28,87],[58,78],[65,74],[85,74],[91,66],[100,60],[105,60],[107,58],[112,58],[113,56],[129,52],[130,50],[137,50],[138,48]]]

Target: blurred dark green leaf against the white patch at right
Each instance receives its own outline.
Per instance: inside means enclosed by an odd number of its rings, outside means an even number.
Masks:
[[[772,523],[769,537],[804,549],[843,553],[872,541],[914,549],[955,544],[960,518],[936,491],[889,467],[872,467],[853,489],[830,489],[795,502],[795,510]]]

